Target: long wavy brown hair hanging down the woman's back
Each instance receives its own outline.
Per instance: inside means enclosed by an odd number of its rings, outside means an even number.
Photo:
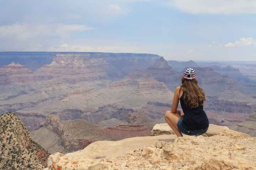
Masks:
[[[206,100],[204,90],[197,85],[197,78],[189,80],[182,77],[181,88],[183,93],[186,94],[186,100],[184,102],[188,107],[194,108],[199,105],[203,105],[203,101]]]

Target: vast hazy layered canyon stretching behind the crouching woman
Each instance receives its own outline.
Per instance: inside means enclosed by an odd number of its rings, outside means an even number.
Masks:
[[[256,83],[233,63],[96,52],[0,52],[0,58],[0,114],[15,112],[50,153],[149,136],[165,122],[185,67],[197,71],[211,123],[255,135],[247,117],[256,112]]]

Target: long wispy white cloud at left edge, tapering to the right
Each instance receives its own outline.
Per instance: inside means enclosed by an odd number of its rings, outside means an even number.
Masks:
[[[31,39],[42,36],[67,36],[72,32],[81,32],[95,28],[85,25],[66,24],[12,24],[0,26],[0,38]]]

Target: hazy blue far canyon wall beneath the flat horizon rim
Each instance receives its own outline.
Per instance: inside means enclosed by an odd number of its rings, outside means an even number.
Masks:
[[[104,53],[104,52],[0,52],[0,67],[18,62],[32,71],[50,64],[56,55],[90,55],[91,58],[104,58],[110,65],[108,76],[123,78],[134,69],[145,69],[160,58],[158,55],[142,53]]]

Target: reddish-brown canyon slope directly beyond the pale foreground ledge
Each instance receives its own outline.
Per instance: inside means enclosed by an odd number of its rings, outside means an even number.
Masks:
[[[42,128],[31,131],[32,139],[50,153],[75,152],[95,141],[116,141],[148,135],[150,135],[150,129],[143,125],[123,122],[120,126],[117,124],[117,126],[105,127],[89,123],[84,119],[62,121],[58,115],[51,115]]]

